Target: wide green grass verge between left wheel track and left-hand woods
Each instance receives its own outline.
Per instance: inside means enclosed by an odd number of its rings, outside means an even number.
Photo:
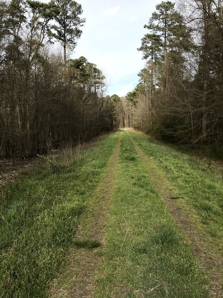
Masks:
[[[68,165],[51,160],[2,190],[0,298],[47,297],[69,247],[98,245],[73,243],[73,236],[116,142],[109,136]]]

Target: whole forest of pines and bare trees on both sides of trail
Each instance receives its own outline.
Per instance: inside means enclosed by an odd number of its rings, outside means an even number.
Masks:
[[[138,48],[145,68],[121,98],[107,95],[97,65],[68,59],[86,21],[82,12],[72,0],[0,2],[0,154],[32,157],[132,127],[220,157],[222,1],[158,4]]]

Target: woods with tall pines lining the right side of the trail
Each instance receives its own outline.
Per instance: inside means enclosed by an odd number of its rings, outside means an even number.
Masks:
[[[162,1],[138,49],[146,61],[133,102],[135,128],[169,142],[223,146],[223,4]]]

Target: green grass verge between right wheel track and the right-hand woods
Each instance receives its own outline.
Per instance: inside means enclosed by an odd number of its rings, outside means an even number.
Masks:
[[[179,198],[196,211],[210,234],[223,239],[222,169],[211,167],[201,160],[196,161],[189,153],[148,142],[148,138],[141,134],[131,133],[131,137],[166,172]]]

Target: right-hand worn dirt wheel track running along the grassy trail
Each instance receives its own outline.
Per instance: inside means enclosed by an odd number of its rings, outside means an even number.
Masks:
[[[156,165],[152,157],[148,157],[134,142],[133,143],[138,155],[144,163],[145,168],[152,177],[152,180],[160,192],[161,197],[166,201],[167,208],[174,218],[176,224],[180,227],[187,241],[193,247],[195,255],[201,267],[208,273],[212,286],[211,292],[213,297],[223,297],[223,255],[222,247],[216,247],[216,242],[210,237],[205,230],[199,228],[196,224],[196,216],[191,214],[187,209],[180,207],[176,200],[176,193],[168,186],[165,173]]]

